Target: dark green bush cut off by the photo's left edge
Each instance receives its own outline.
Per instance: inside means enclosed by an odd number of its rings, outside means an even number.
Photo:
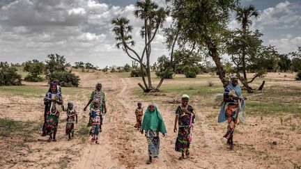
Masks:
[[[0,62],[0,86],[19,86],[21,75],[17,74],[15,67],[10,67],[7,62]]]

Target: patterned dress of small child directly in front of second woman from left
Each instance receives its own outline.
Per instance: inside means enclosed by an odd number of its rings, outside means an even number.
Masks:
[[[98,140],[98,134],[100,133],[100,125],[102,121],[102,112],[99,108],[92,108],[90,113],[91,117],[91,129],[90,129],[90,135],[92,136],[91,141],[97,141]]]

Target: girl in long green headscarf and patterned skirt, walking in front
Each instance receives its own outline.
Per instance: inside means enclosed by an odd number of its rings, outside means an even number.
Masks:
[[[159,131],[163,134],[163,137],[167,133],[162,116],[153,103],[148,104],[148,108],[144,113],[141,134],[144,134],[144,131],[148,142],[149,156],[146,163],[150,164],[152,162],[152,157],[157,157],[160,152]]]

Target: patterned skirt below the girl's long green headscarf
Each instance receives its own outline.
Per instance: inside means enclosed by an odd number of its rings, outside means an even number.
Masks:
[[[148,156],[158,156],[160,152],[159,131],[146,131],[146,140],[148,143]]]

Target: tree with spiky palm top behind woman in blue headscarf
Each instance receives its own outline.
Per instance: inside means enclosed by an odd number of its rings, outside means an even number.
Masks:
[[[254,6],[238,7],[236,9],[236,21],[240,23],[241,28],[236,29],[229,35],[226,42],[227,53],[231,55],[233,63],[236,65],[236,74],[247,92],[253,92],[249,86],[257,77],[263,77],[269,69],[274,70],[277,67],[277,56],[279,55],[274,47],[265,47],[262,45],[263,35],[258,30],[249,31],[252,25],[251,17],[258,18],[258,11]],[[254,72],[251,79],[247,77],[247,70]],[[241,76],[240,73],[243,75]],[[261,88],[263,88],[263,81]]]

